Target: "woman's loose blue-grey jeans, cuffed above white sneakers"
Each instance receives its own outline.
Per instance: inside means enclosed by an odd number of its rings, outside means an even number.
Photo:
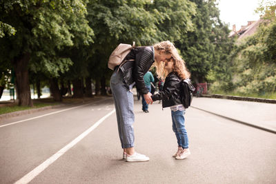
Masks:
[[[133,112],[134,100],[130,91],[132,85],[126,85],[121,71],[117,72],[115,70],[110,78],[110,88],[115,102],[121,147],[134,147],[134,130],[132,126],[135,121]]]

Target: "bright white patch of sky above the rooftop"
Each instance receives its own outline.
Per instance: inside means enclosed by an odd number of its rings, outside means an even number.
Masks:
[[[220,10],[220,19],[229,24],[232,30],[233,24],[236,30],[242,25],[247,25],[247,21],[257,21],[259,14],[255,13],[259,7],[260,0],[218,0],[218,8]]]

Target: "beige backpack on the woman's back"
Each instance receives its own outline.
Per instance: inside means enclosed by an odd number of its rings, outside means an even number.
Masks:
[[[108,68],[114,70],[117,65],[123,65],[126,55],[135,47],[135,41],[133,45],[120,43],[115,50],[111,53],[108,59]]]

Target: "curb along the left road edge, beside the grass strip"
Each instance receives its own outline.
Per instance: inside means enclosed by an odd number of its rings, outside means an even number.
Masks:
[[[60,108],[64,106],[64,104],[61,105],[49,105],[47,107],[43,107],[43,108],[36,108],[36,109],[31,109],[31,110],[19,110],[16,112],[9,112],[6,114],[0,114],[0,121],[3,121],[5,119],[10,119],[14,116],[21,116],[21,115],[26,115],[26,114],[32,114],[34,112],[39,112],[39,111],[43,111],[43,110],[50,110],[53,108]]]

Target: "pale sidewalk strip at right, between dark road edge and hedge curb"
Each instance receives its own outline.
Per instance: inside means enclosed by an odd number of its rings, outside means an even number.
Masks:
[[[276,132],[276,105],[273,103],[194,97],[192,107]]]

